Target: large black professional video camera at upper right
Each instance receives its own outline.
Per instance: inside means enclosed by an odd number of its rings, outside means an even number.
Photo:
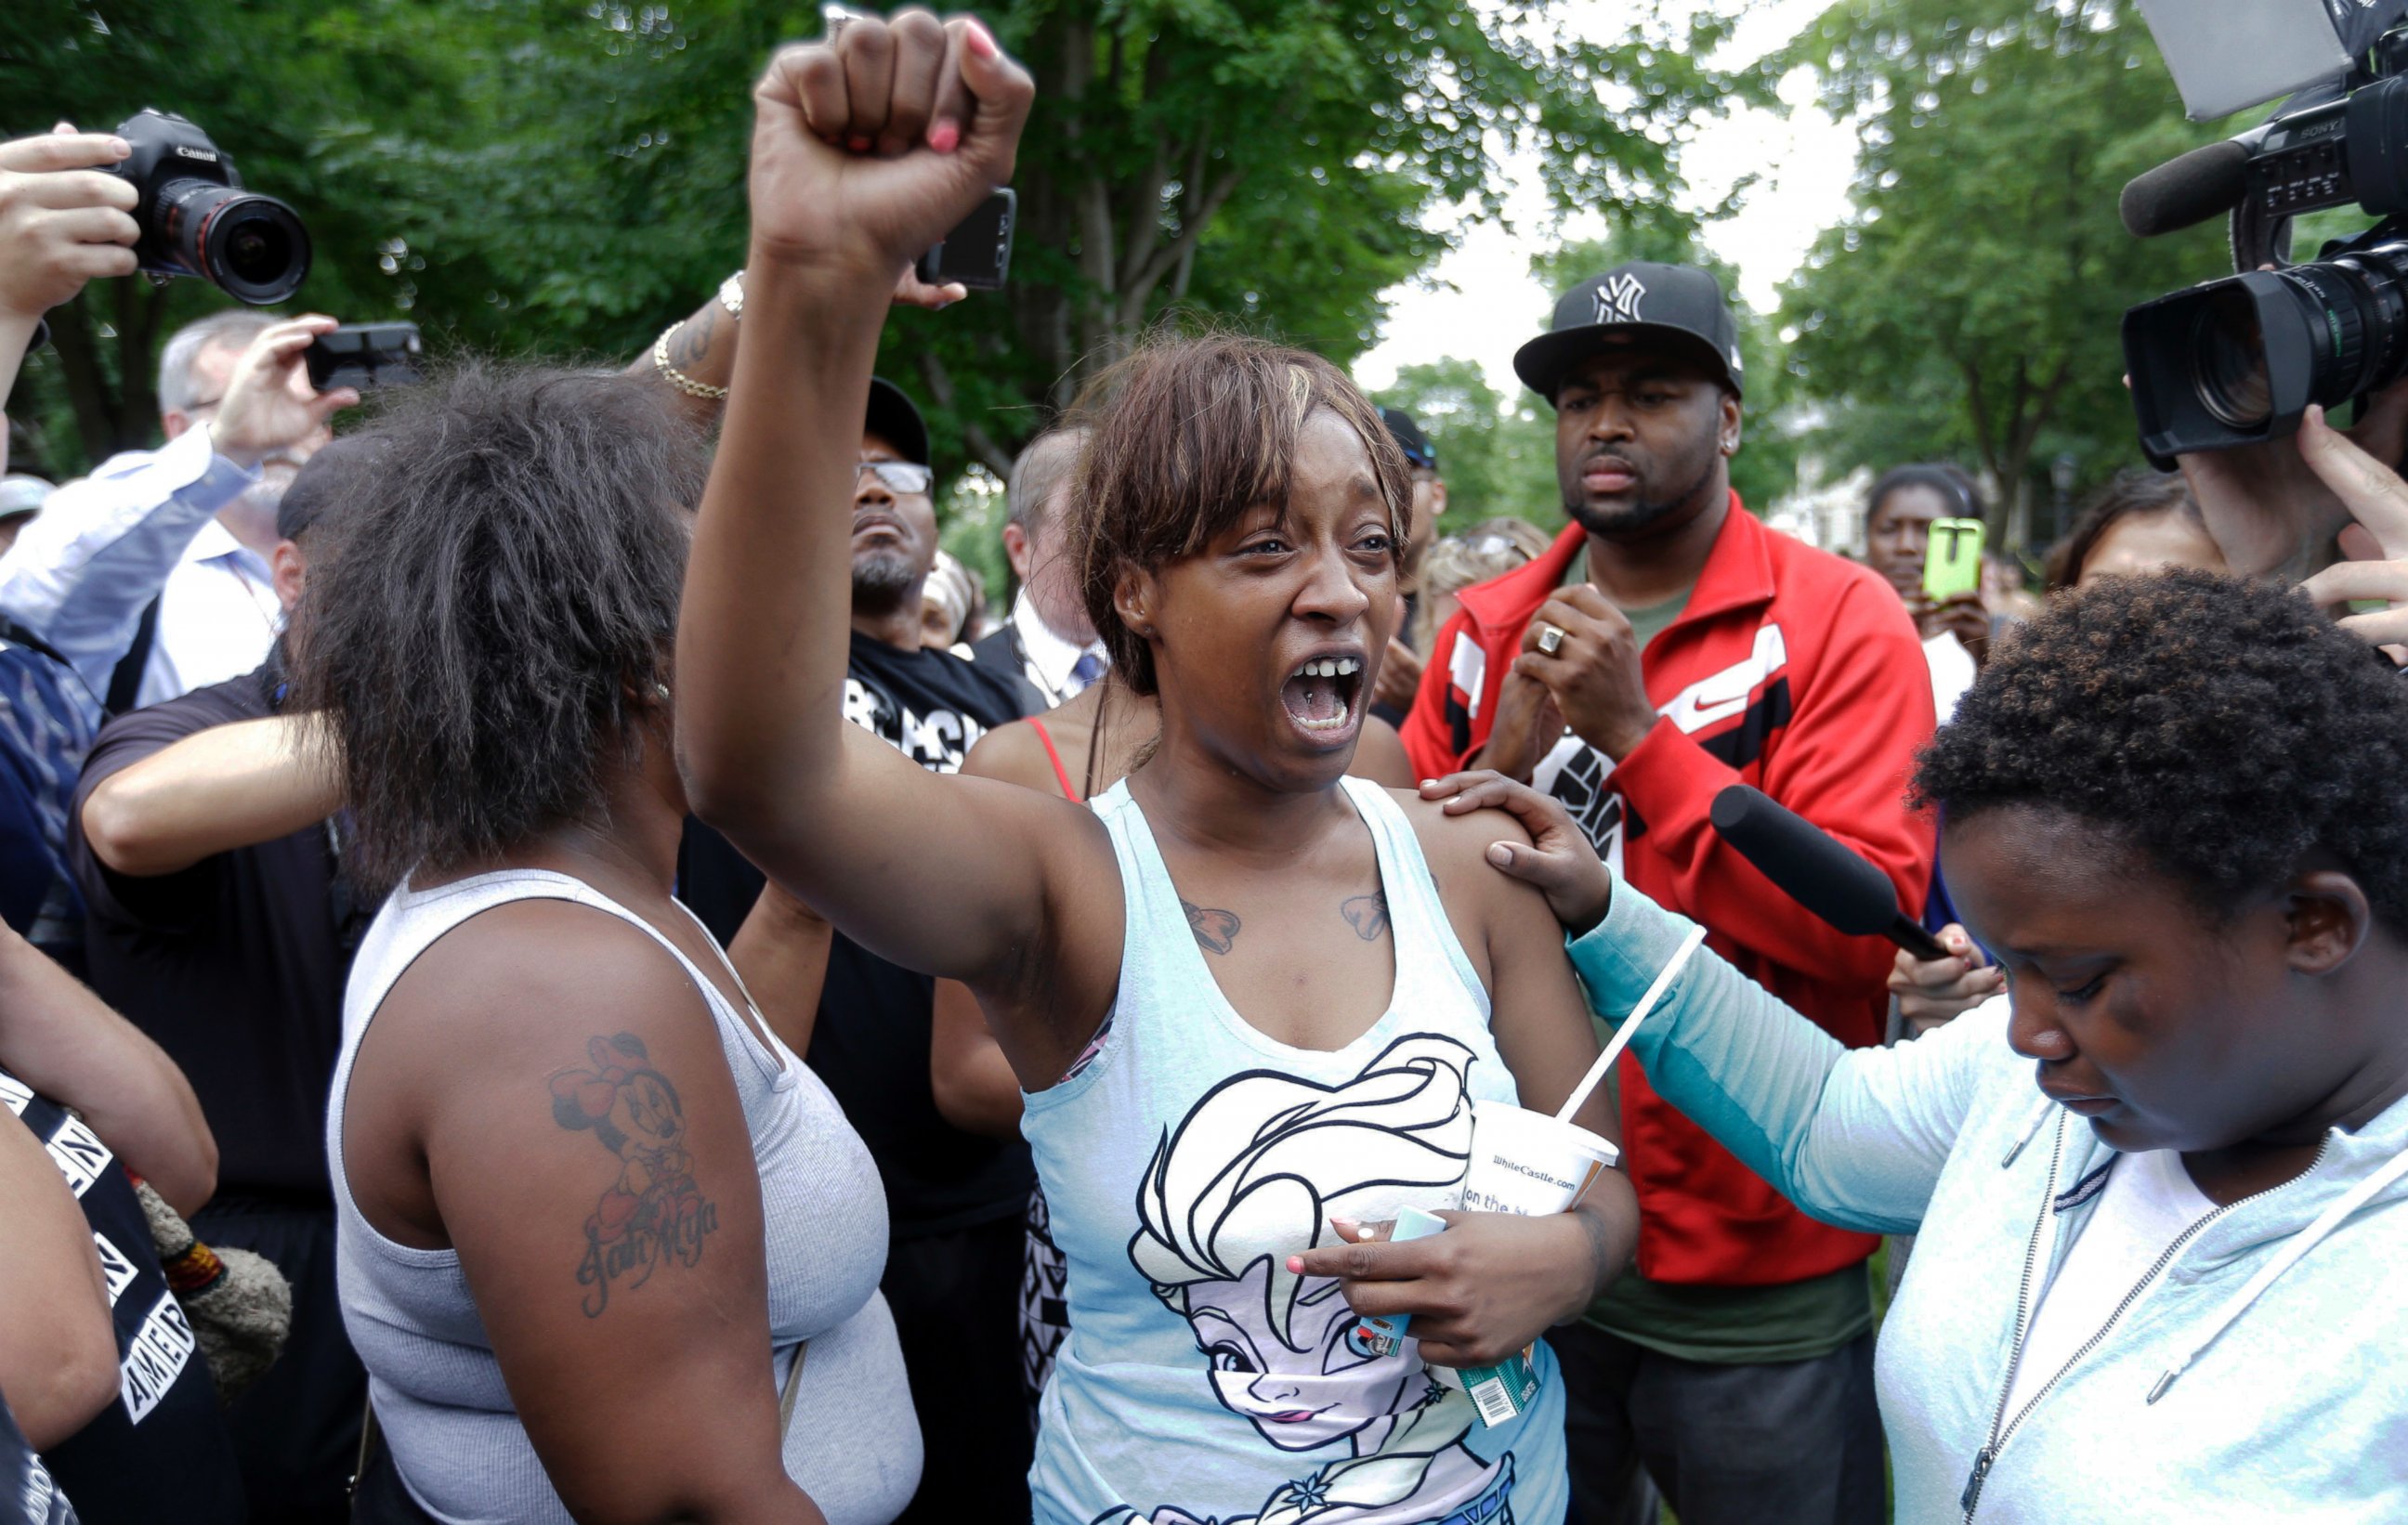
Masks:
[[[2348,205],[2382,222],[2292,265],[2292,217]],[[2141,236],[2225,210],[2239,275],[2124,313],[2141,446],[2158,465],[2283,438],[2309,402],[2336,407],[2408,373],[2408,29],[2345,80],[2124,188],[2124,226]]]

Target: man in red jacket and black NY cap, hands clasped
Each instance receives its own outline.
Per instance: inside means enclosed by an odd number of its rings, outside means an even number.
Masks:
[[[1640,891],[1845,1043],[1878,1043],[1890,949],[1772,889],[1707,822],[1753,783],[1922,906],[1905,807],[1931,737],[1922,643],[1890,588],[1755,523],[1731,491],[1739,328],[1702,270],[1630,263],[1556,304],[1515,371],[1556,405],[1572,528],[1466,588],[1404,740],[1421,776],[1493,766],[1563,800]],[[1551,1337],[1587,1525],[1878,1523],[1871,1236],[1816,1224],[1621,1065],[1640,1258]],[[1642,1477],[1642,1470],[1647,1477]]]

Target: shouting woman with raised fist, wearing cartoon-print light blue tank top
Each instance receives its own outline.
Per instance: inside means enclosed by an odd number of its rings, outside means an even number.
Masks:
[[[1344,781],[1411,520],[1361,390],[1238,337],[1112,378],[1072,540],[1161,740],[1093,812],[843,720],[881,287],[1011,181],[1031,94],[975,22],[903,17],[756,89],[746,337],[677,643],[696,809],[848,937],[970,985],[1028,1094],[1072,1330],[1038,1520],[1553,1525],[1560,1383],[1481,1424],[1426,1364],[1536,1344],[1548,1373],[1541,1335],[1630,1260],[1630,1183],[1363,1243],[1459,1200],[1476,1101],[1553,1111],[1597,1038],[1553,915],[1483,860],[1515,826]],[[1580,1123],[1613,1132],[1601,1094]]]

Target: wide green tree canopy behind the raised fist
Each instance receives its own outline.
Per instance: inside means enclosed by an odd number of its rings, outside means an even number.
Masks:
[[[1755,89],[1705,65],[1727,22],[1575,41],[1544,0],[1004,0],[1038,75],[1014,279],[898,313],[881,369],[939,451],[1009,451],[1149,325],[1221,320],[1353,359],[1380,292],[1495,210],[1534,142],[1563,205],[1678,186],[1674,125]],[[303,301],[409,316],[438,347],[628,354],[744,253],[749,87],[795,0],[10,0],[0,130],[140,104],[202,123],[318,241]],[[1611,82],[1599,89],[1597,82]],[[94,289],[31,371],[31,455],[75,470],[152,434],[159,335],[219,299]]]

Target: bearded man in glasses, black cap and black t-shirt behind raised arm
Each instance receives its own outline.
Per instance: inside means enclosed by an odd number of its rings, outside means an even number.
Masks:
[[[869,383],[852,479],[852,660],[845,718],[932,773],[1026,711],[1019,675],[922,646],[920,593],[937,561],[927,424],[901,388]],[[809,790],[809,781],[797,781]],[[903,1520],[1028,1515],[1028,1409],[1021,1397],[1021,1217],[1035,1185],[1019,1137],[963,1132],[929,1082],[934,983],[833,937],[816,1014],[792,1012],[790,949],[826,935],[809,911],[727,841],[686,824],[677,896],[737,966],[771,1026],[828,1084],[886,1180],[881,1291],[903,1337],[929,1465]],[[746,928],[746,918],[751,925]],[[737,930],[746,928],[739,942]]]

